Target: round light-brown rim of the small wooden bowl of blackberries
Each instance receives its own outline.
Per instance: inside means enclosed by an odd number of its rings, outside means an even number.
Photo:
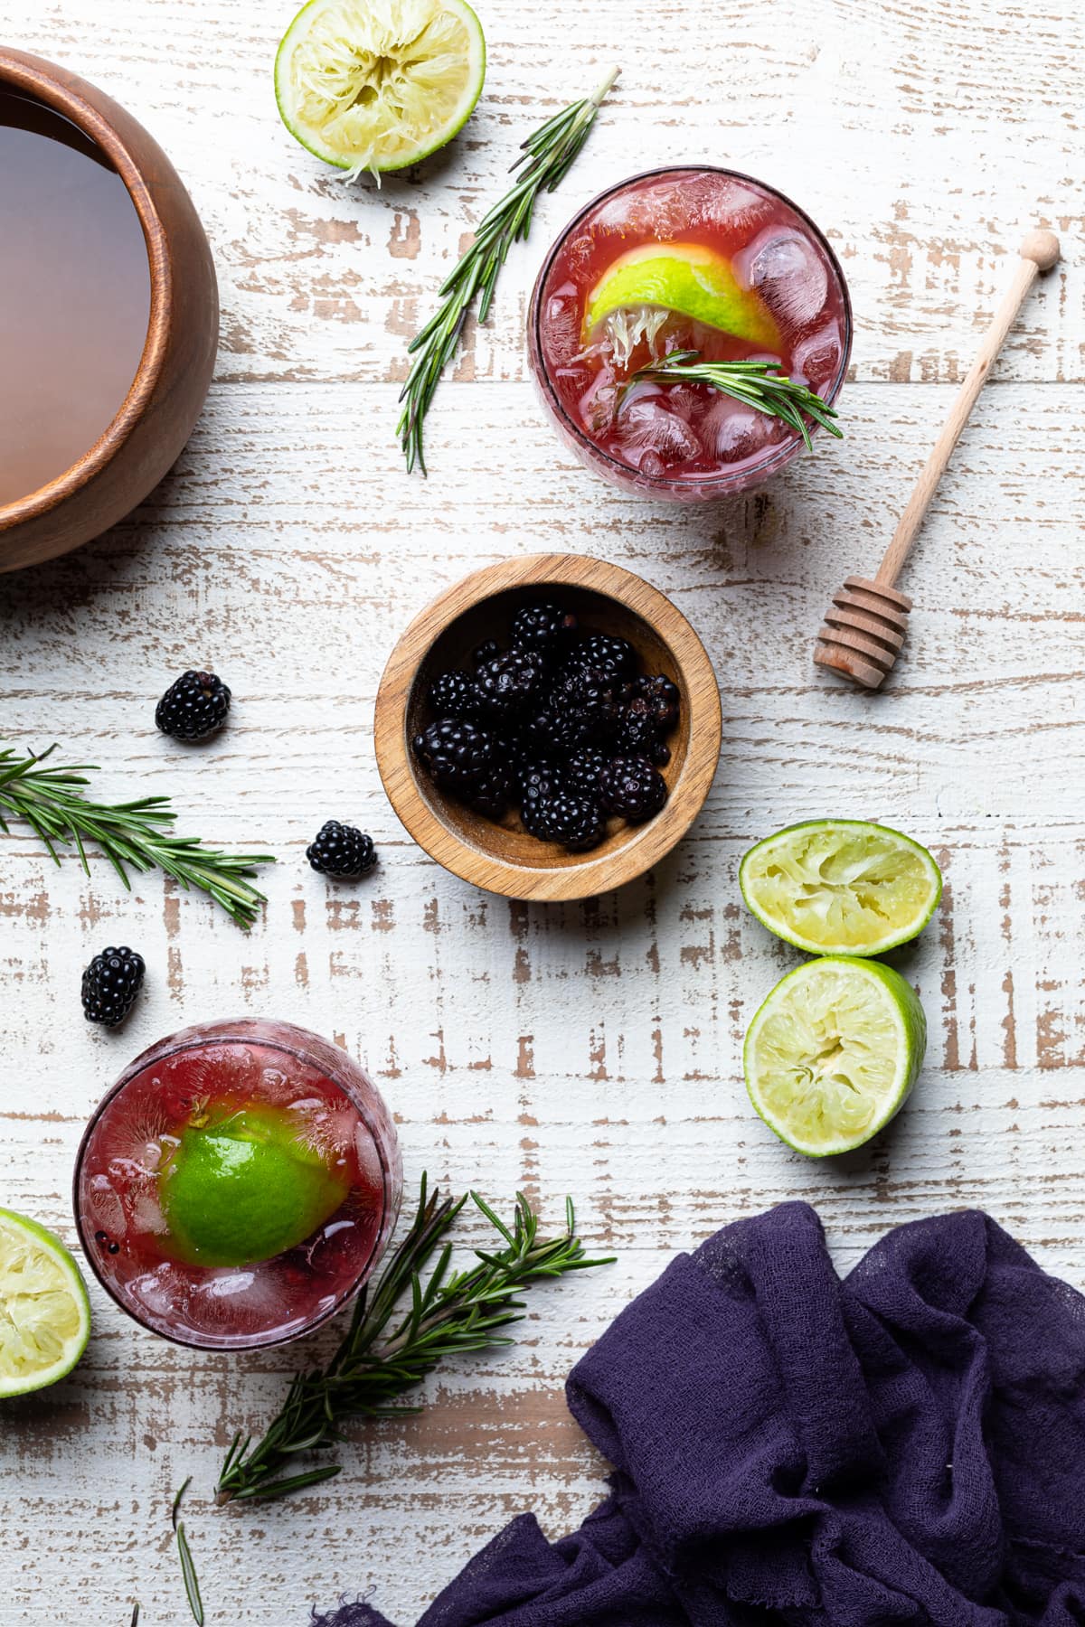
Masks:
[[[586,853],[547,869],[498,859],[441,820],[418,789],[407,716],[416,674],[436,639],[467,610],[516,587],[579,587],[613,599],[643,617],[675,652],[690,739],[665,807],[612,854]],[[573,901],[612,892],[643,875],[686,835],[708,797],[722,744],[719,683],[708,651],[682,610],[643,576],[592,555],[530,553],[472,571],[433,599],[400,635],[387,659],[373,726],[374,750],[389,802],[410,836],[452,875],[506,898]]]

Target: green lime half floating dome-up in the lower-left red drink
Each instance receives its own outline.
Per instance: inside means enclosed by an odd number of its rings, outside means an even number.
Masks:
[[[304,1243],[346,1193],[281,1111],[189,1126],[159,1176],[168,1251],[189,1266],[254,1266]]]

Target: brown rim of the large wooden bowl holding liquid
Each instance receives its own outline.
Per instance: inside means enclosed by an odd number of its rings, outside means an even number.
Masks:
[[[130,143],[115,125],[81,93],[81,81],[67,68],[34,57],[29,52],[0,46],[0,89],[15,89],[34,101],[44,103],[70,119],[99,146],[124,181],[143,228],[146,260],[151,281],[151,306],[146,319],[146,338],[135,377],[112,420],[99,438],[68,469],[44,486],[28,491],[15,503],[0,504],[0,535],[26,521],[49,514],[67,498],[81,491],[112,459],[138,425],[148,400],[158,387],[169,347],[169,311],[172,308],[172,270],[166,247],[166,231],[161,223],[151,190],[143,177]],[[86,85],[98,93],[98,88]],[[106,91],[99,91],[107,98]],[[122,109],[124,111],[124,109]]]

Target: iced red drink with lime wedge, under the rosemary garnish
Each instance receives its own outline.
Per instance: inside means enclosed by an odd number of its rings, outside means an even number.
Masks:
[[[529,347],[582,462],[638,491],[704,499],[758,485],[802,436],[708,384],[633,374],[672,351],[765,361],[831,403],[851,306],[828,242],[779,192],[727,169],[660,169],[604,192],[560,236]]]

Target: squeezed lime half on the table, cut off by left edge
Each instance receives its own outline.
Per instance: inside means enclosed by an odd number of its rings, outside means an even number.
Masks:
[[[59,1237],[0,1209],[0,1398],[70,1373],[91,1336],[91,1302]]]

